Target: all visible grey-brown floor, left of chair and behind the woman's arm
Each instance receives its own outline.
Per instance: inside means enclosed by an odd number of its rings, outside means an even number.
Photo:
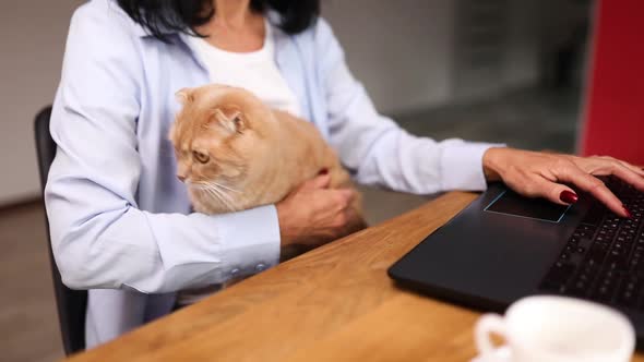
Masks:
[[[403,128],[434,138],[463,137],[528,149],[573,152],[577,92],[522,90],[477,104],[396,117]],[[362,188],[370,224],[425,203],[427,196]],[[44,209],[31,203],[0,210],[0,360],[53,361],[62,348],[58,331]]]

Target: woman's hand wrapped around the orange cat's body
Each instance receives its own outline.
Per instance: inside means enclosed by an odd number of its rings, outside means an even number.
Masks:
[[[331,177],[318,176],[277,203],[282,248],[320,246],[337,239],[351,219],[351,190],[329,189]]]

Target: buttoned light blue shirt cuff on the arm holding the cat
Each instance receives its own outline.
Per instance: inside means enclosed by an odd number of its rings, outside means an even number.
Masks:
[[[219,215],[226,278],[246,277],[279,263],[279,222],[274,205]]]

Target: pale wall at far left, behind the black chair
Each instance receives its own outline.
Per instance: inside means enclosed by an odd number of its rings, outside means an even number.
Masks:
[[[0,205],[39,193],[33,120],[51,104],[81,0],[0,1]]]

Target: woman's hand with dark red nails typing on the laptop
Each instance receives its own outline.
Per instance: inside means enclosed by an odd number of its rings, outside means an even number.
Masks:
[[[644,171],[633,165],[606,156],[577,157],[513,148],[490,148],[484,155],[484,170],[489,181],[502,180],[512,190],[528,197],[546,197],[561,205],[577,201],[570,184],[591,193],[622,217],[631,213],[595,176],[615,174],[644,191]]]

